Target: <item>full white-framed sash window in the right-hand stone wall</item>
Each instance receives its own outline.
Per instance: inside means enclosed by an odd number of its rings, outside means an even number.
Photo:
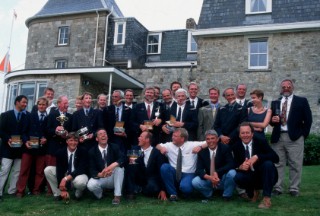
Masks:
[[[249,40],[249,69],[268,69],[268,39]]]

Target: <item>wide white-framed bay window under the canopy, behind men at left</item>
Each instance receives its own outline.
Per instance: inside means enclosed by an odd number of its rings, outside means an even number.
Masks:
[[[18,95],[25,95],[28,98],[27,110],[31,111],[36,100],[43,95],[44,88],[46,88],[47,85],[48,84],[45,81],[30,81],[10,84],[8,86],[7,110],[14,108],[14,100]]]

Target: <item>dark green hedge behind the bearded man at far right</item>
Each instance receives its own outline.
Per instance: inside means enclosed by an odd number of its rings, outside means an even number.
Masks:
[[[271,134],[266,134],[270,142]],[[304,144],[303,165],[319,165],[320,164],[320,135],[310,134]]]

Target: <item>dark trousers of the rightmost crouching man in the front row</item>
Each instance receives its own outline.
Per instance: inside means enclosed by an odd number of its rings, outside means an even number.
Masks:
[[[262,189],[263,196],[271,197],[273,186],[278,181],[278,172],[271,161],[265,161],[254,171],[237,171],[234,181],[246,190],[249,197],[253,197],[253,191]]]

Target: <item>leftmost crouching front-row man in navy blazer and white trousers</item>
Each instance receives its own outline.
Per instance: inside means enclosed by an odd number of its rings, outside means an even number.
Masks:
[[[69,133],[66,140],[67,146],[60,149],[57,154],[57,166],[48,166],[45,176],[52,188],[56,199],[69,199],[68,189],[75,189],[76,199],[82,197],[86,189],[88,176],[87,172],[87,152],[78,147],[79,139],[75,133]],[[59,188],[58,188],[59,183]]]

